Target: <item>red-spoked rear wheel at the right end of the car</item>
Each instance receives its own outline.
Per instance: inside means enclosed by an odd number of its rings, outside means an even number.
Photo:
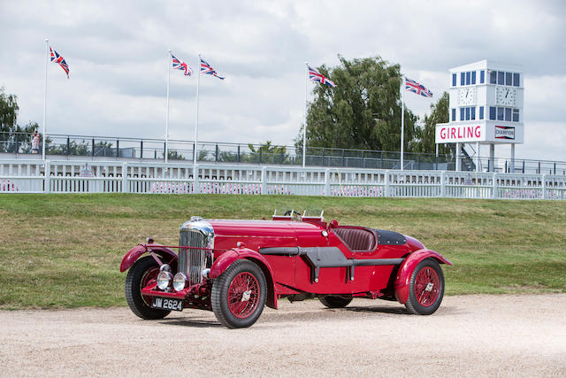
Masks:
[[[425,258],[410,276],[409,297],[405,307],[410,313],[430,315],[444,296],[444,274],[436,260]]]

